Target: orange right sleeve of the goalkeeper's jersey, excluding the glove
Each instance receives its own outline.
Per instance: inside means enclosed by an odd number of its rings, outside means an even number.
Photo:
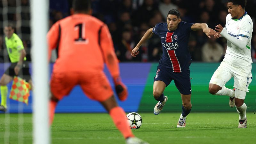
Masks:
[[[106,62],[106,65],[111,76],[119,76],[119,65],[114,50],[114,44],[112,42],[112,38],[108,30],[108,27],[105,24],[100,29],[99,43],[103,51],[104,60]]]

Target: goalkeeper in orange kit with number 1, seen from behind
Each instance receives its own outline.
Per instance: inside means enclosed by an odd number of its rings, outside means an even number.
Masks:
[[[116,93],[126,100],[128,92],[120,78],[118,60],[106,24],[91,16],[90,0],[74,0],[75,14],[57,21],[47,34],[49,58],[54,48],[58,59],[51,78],[50,124],[59,100],[80,85],[92,100],[99,101],[123,134],[126,143],[144,143],[132,134],[123,108],[116,103],[111,85],[103,72],[106,63],[113,77]]]

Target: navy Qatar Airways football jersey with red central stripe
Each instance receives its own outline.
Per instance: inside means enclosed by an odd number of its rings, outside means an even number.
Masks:
[[[191,64],[188,51],[188,40],[193,23],[181,21],[174,31],[167,29],[167,23],[158,23],[153,28],[153,33],[161,39],[163,56],[159,60],[159,66],[172,69],[172,72],[181,72]]]

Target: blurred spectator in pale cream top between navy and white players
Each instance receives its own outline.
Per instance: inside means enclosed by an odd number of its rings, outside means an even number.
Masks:
[[[202,47],[202,60],[204,62],[219,62],[223,55],[223,47],[211,37]]]

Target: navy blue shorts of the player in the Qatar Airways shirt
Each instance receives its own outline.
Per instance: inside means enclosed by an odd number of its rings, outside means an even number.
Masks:
[[[163,81],[166,87],[174,80],[174,84],[181,94],[191,94],[190,70],[183,69],[181,73],[174,73],[172,69],[157,67],[155,81]]]

